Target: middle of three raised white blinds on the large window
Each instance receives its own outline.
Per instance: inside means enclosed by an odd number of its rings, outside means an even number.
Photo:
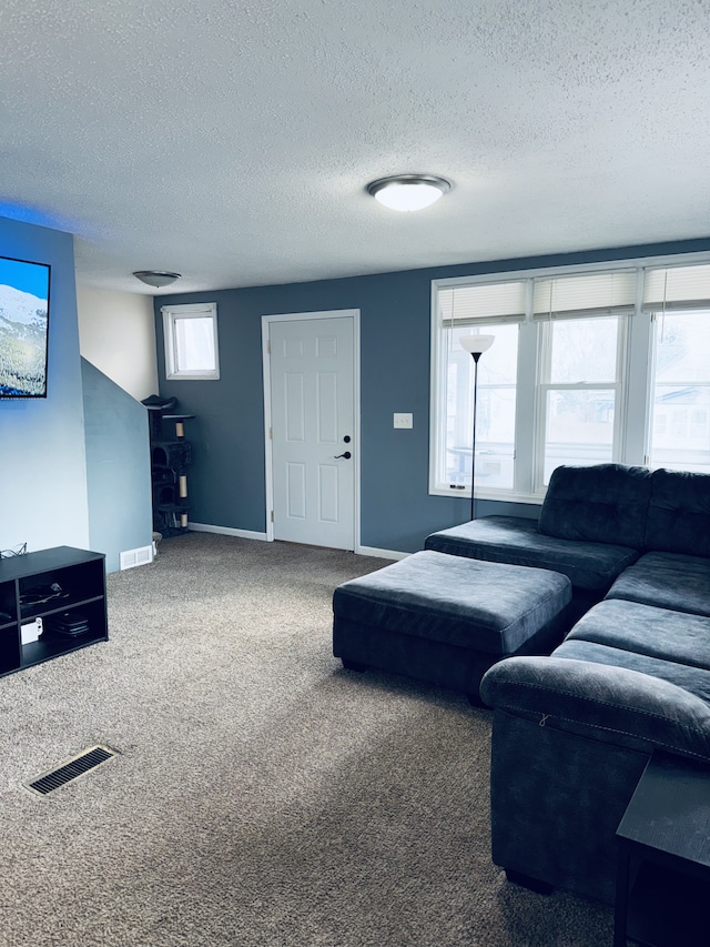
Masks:
[[[636,271],[613,270],[535,280],[534,319],[589,319],[632,314]]]

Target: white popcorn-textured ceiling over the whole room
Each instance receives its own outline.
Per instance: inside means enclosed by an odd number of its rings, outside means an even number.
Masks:
[[[89,285],[710,235],[708,0],[3,0],[0,34],[0,215]],[[454,189],[366,194],[404,172]]]

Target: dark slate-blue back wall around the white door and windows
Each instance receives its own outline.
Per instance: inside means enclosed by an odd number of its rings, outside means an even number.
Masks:
[[[425,537],[469,517],[468,497],[428,494],[430,281],[542,266],[710,250],[707,240],[595,250],[189,294],[155,301],[160,393],[194,413],[190,518],[213,526],[266,530],[261,318],[278,313],[361,311],[361,543],[414,552]],[[276,276],[277,274],[275,274]],[[165,381],[161,306],[216,302],[221,379]],[[413,412],[414,429],[393,429]],[[537,507],[481,501],[477,514],[536,516]]]

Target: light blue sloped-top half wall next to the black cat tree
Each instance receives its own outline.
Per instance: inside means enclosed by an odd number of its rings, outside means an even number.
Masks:
[[[89,541],[118,572],[119,553],[153,542],[148,410],[81,360]]]

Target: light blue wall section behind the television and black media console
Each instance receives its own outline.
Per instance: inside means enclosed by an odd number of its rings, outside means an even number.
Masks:
[[[0,255],[51,265],[47,399],[0,400],[0,548],[87,547],[73,238],[0,218]]]

